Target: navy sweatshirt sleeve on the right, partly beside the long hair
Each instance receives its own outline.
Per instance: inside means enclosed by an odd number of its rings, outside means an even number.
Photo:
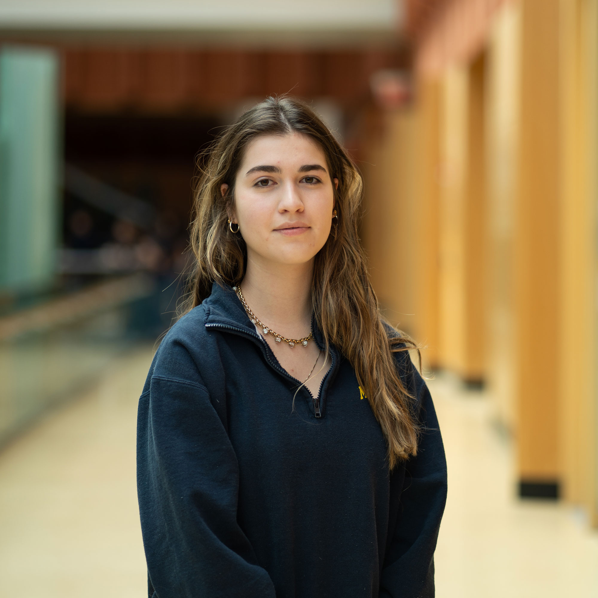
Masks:
[[[447,496],[446,459],[428,387],[410,359],[403,367],[408,388],[417,398],[422,428],[417,455],[405,463],[404,482],[395,490],[398,515],[379,598],[434,598],[434,550]],[[396,472],[391,476],[391,491],[393,477],[396,482]]]

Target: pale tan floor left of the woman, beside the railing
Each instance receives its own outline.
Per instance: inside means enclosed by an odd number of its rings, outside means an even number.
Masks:
[[[137,399],[151,349],[0,453],[0,597],[142,598]]]

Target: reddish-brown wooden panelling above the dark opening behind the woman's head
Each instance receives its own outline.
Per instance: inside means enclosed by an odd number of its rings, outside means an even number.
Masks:
[[[63,48],[63,96],[80,111],[225,112],[244,99],[292,93],[363,105],[370,77],[404,65],[388,51]]]

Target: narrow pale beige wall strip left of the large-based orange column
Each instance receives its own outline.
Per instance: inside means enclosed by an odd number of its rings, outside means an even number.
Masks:
[[[515,427],[514,213],[520,116],[520,5],[496,14],[487,45],[487,383],[496,417]]]

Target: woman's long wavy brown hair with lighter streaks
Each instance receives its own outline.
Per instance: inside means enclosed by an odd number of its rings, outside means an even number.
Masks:
[[[205,152],[194,193],[191,250],[195,260],[181,315],[199,305],[212,283],[234,285],[245,275],[246,245],[228,230],[234,181],[245,148],[258,135],[301,133],[315,140],[338,179],[334,207],[338,218],[315,258],[312,306],[325,349],[334,345],[355,369],[388,444],[390,469],[417,451],[413,397],[401,381],[392,353],[414,348],[380,314],[358,236],[362,180],[347,152],[318,115],[292,97],[268,97],[224,129]],[[221,185],[228,191],[221,194]]]

